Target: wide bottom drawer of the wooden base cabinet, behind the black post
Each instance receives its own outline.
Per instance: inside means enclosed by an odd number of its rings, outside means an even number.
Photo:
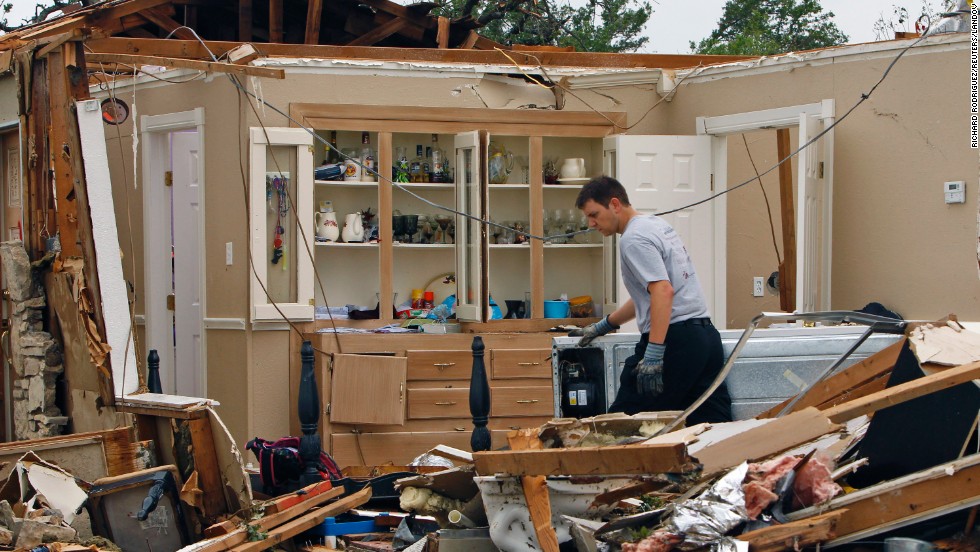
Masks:
[[[490,432],[490,448],[507,444],[508,430]],[[347,466],[404,466],[436,445],[470,450],[472,431],[420,433],[335,433],[330,436],[330,455],[341,468]]]

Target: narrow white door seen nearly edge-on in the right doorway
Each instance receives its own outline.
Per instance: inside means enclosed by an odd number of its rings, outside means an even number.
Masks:
[[[815,115],[800,114],[800,145],[823,130]],[[830,309],[830,201],[824,178],[824,138],[800,154],[797,164],[796,310]]]

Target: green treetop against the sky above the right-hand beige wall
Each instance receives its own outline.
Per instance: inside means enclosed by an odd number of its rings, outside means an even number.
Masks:
[[[847,42],[819,0],[728,0],[718,28],[700,42],[698,54],[771,55]]]

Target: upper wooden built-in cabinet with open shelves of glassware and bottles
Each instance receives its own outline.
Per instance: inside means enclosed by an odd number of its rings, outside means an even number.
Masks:
[[[389,320],[392,304],[409,299],[412,289],[429,286],[436,303],[450,294],[460,298],[460,319],[487,322],[493,314],[490,298],[506,313],[506,301],[528,296],[532,319],[543,318],[544,301],[562,294],[591,296],[596,317],[617,302],[612,239],[591,233],[520,243],[506,230],[480,221],[520,225],[538,236],[582,229],[574,208],[582,179],[545,184],[543,166],[581,158],[587,176],[601,174],[607,163],[602,138],[625,122],[625,114],[310,104],[291,106],[291,114],[321,137],[336,132],[342,150],[359,148],[366,132],[382,175],[380,183],[315,182],[314,206],[330,202],[341,226],[347,214],[369,209],[376,213],[379,237],[377,243],[314,243],[309,234],[322,283],[315,286],[316,305],[379,305],[380,318]],[[406,152],[411,159],[419,145],[424,151],[433,134],[449,160],[452,182],[388,182],[395,158]],[[487,174],[491,145],[507,152],[511,167],[505,178],[492,183]],[[316,164],[327,157],[322,144],[314,152]],[[396,233],[393,215],[417,214],[430,221],[451,215],[439,206],[468,215],[455,215],[438,234],[439,243],[418,243],[422,229],[411,237]],[[446,274],[456,276],[455,286],[442,285]]]

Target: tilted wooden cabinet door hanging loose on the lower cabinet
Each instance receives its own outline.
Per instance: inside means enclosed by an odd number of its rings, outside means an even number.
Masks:
[[[335,354],[330,422],[405,425],[407,377],[406,357]]]

